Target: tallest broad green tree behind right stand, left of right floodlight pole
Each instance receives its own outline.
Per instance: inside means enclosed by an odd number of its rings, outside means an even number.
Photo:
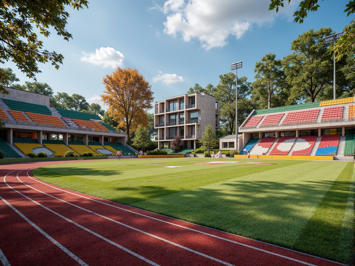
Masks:
[[[332,83],[333,63],[324,42],[331,32],[331,28],[312,29],[292,41],[294,52],[284,57],[283,65],[293,99],[314,102]]]

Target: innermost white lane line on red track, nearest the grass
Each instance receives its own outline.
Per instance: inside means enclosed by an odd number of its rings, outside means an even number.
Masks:
[[[42,183],[43,185],[46,185],[46,186],[55,188],[56,190],[60,190],[60,191],[66,192],[66,193],[70,193],[70,194],[72,194],[72,195],[76,195],[76,196],[79,196],[79,197],[82,197],[82,198],[89,199],[89,200],[94,201],[94,202],[98,202],[98,203],[101,203],[101,204],[105,204],[105,205],[107,205],[107,206],[111,206],[111,207],[114,207],[114,208],[116,208],[116,209],[120,209],[120,210],[122,210],[122,211],[126,211],[126,212],[130,212],[130,213],[138,214],[138,215],[140,215],[140,216],[147,217],[147,218],[150,218],[150,219],[153,219],[153,220],[157,220],[157,221],[159,221],[159,222],[171,224],[171,225],[174,225],[174,226],[177,226],[177,227],[180,227],[180,228],[184,228],[184,229],[187,229],[187,230],[191,230],[191,231],[193,231],[193,232],[197,232],[197,233],[201,233],[201,234],[204,234],[204,235],[212,236],[212,237],[214,237],[214,238],[218,238],[218,239],[221,239],[221,240],[225,240],[225,241],[231,242],[231,243],[233,243],[233,244],[245,246],[245,247],[247,247],[247,248],[255,249],[255,250],[262,251],[262,252],[265,252],[265,253],[268,253],[268,254],[271,254],[271,255],[275,255],[275,256],[278,256],[278,257],[282,257],[282,258],[287,259],[287,260],[296,261],[296,262],[299,262],[299,263],[304,264],[304,265],[316,266],[316,265],[314,265],[314,264],[310,264],[310,263],[305,262],[305,261],[296,260],[296,259],[293,259],[293,258],[291,258],[291,257],[287,257],[287,256],[284,256],[284,255],[281,255],[281,254],[277,254],[277,253],[274,253],[274,252],[271,252],[271,251],[267,251],[267,250],[264,250],[264,249],[259,249],[259,248],[256,248],[256,247],[254,247],[254,246],[250,246],[250,245],[246,245],[246,244],[243,244],[243,243],[234,241],[234,240],[230,240],[230,239],[228,239],[228,238],[223,238],[223,237],[221,237],[221,236],[209,234],[209,233],[206,233],[206,232],[203,232],[203,231],[200,231],[200,230],[196,230],[196,229],[193,229],[193,228],[185,227],[185,226],[183,226],[183,225],[179,225],[179,224],[175,224],[175,223],[170,223],[170,222],[168,222],[168,221],[164,221],[164,220],[161,220],[161,219],[158,219],[158,218],[155,218],[155,217],[151,217],[151,216],[148,216],[148,215],[139,213],[139,212],[133,212],[133,211],[127,210],[127,209],[125,209],[125,208],[121,208],[121,207],[118,207],[118,206],[114,206],[114,205],[108,204],[108,203],[106,203],[106,202],[98,201],[97,199],[88,198],[88,197],[85,197],[85,196],[82,196],[82,195],[79,195],[79,194],[76,194],[76,193],[73,193],[73,192],[70,192],[70,191],[62,190],[62,189],[60,189],[60,188],[51,186],[51,185],[49,185],[49,184],[46,184],[46,183],[44,183],[44,182],[41,182],[41,181],[39,181],[39,180],[34,179],[33,177],[31,177],[31,176],[28,175],[28,172],[29,172],[29,171],[31,171],[31,170],[28,170],[28,171],[27,171],[27,176],[28,176],[29,178],[31,178],[31,179],[33,179],[34,181],[37,181],[37,182],[39,182],[39,183]],[[173,219],[173,218],[170,218],[170,219]],[[305,254],[305,255],[307,255],[307,254]]]

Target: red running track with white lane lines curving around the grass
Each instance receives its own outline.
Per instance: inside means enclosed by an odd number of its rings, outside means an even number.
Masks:
[[[0,166],[3,265],[339,265],[71,191],[31,175],[31,169],[60,163],[66,162]]]

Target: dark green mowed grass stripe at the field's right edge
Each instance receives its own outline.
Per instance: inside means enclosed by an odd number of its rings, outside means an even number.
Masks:
[[[294,248],[309,254],[351,263],[340,247],[349,246],[349,234],[342,235],[353,167],[349,164],[335,179],[311,220],[302,230]],[[354,220],[354,216],[347,219]],[[341,251],[341,255],[339,255]]]

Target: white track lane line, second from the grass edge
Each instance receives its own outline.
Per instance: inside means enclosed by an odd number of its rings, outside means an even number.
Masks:
[[[61,201],[61,202],[70,204],[71,206],[74,206],[74,207],[77,207],[77,208],[79,208],[79,209],[82,209],[83,211],[86,211],[86,212],[95,214],[95,215],[97,215],[97,216],[99,216],[99,217],[102,217],[102,218],[104,218],[104,219],[108,219],[108,220],[110,220],[111,222],[114,222],[114,223],[123,225],[123,226],[125,226],[125,227],[127,227],[127,228],[130,228],[130,229],[132,229],[132,230],[136,230],[137,232],[140,232],[140,233],[142,233],[142,234],[146,234],[146,235],[152,236],[153,238],[162,240],[162,241],[164,241],[164,242],[166,242],[166,243],[169,243],[169,244],[171,244],[171,245],[174,245],[174,246],[177,246],[177,247],[179,247],[179,248],[185,249],[185,250],[187,250],[187,251],[193,252],[193,253],[195,253],[195,254],[197,254],[197,255],[206,257],[207,259],[211,259],[211,260],[220,262],[221,264],[224,264],[224,265],[234,266],[233,264],[230,264],[230,263],[225,262],[225,261],[223,261],[223,260],[216,259],[215,257],[209,256],[209,255],[203,254],[203,253],[201,253],[201,252],[198,252],[198,251],[196,251],[196,250],[193,250],[193,249],[187,248],[187,247],[185,247],[185,246],[179,245],[179,244],[177,244],[177,243],[175,243],[175,242],[172,242],[172,241],[169,241],[169,240],[167,240],[167,239],[161,238],[161,237],[159,237],[159,236],[157,236],[157,235],[149,234],[148,232],[142,231],[142,230],[140,230],[140,229],[138,229],[138,228],[131,227],[130,225],[127,225],[127,224],[118,222],[118,221],[116,221],[116,220],[114,220],[114,219],[111,219],[111,218],[109,218],[109,217],[107,217],[107,216],[103,216],[103,215],[101,215],[101,214],[99,214],[99,213],[96,213],[96,212],[90,211],[90,210],[88,210],[88,209],[82,208],[82,207],[77,206],[77,205],[75,205],[75,204],[73,204],[73,203],[67,202],[67,201],[65,201],[65,200],[63,200],[63,199],[60,199],[60,198],[57,198],[57,197],[55,197],[55,196],[49,195],[49,194],[47,194],[47,193],[45,193],[45,192],[43,192],[43,191],[38,190],[37,188],[34,188],[34,187],[30,186],[30,185],[27,185],[26,183],[24,183],[23,181],[20,180],[20,178],[18,177],[18,175],[17,175],[17,179],[18,179],[18,181],[22,182],[24,185],[26,185],[26,186],[32,188],[32,189],[35,190],[35,191],[38,191],[38,192],[40,192],[40,193],[43,193],[44,195],[47,195],[47,196],[49,196],[49,197],[58,199],[58,200]],[[18,192],[18,193],[20,193],[20,192]],[[22,195],[22,194],[21,194],[21,195]],[[23,195],[23,196],[24,196],[24,195]],[[26,197],[26,196],[25,196],[25,197]],[[32,200],[32,199],[31,199],[31,200]],[[34,202],[35,202],[35,201],[34,201]],[[37,203],[37,204],[39,204],[40,206],[42,206],[40,203]],[[44,206],[42,206],[42,207],[44,207]],[[47,207],[44,207],[44,208],[48,209]],[[49,210],[49,209],[48,209],[48,210]],[[50,211],[51,211],[51,210],[50,210]],[[54,211],[51,211],[51,212],[57,214],[57,213],[54,212]],[[57,214],[57,215],[61,216],[60,214]],[[67,218],[65,218],[65,219],[67,219]],[[69,219],[68,219],[68,220],[69,220]],[[73,222],[73,223],[75,223],[75,222]],[[89,229],[88,229],[88,230],[89,230]]]

